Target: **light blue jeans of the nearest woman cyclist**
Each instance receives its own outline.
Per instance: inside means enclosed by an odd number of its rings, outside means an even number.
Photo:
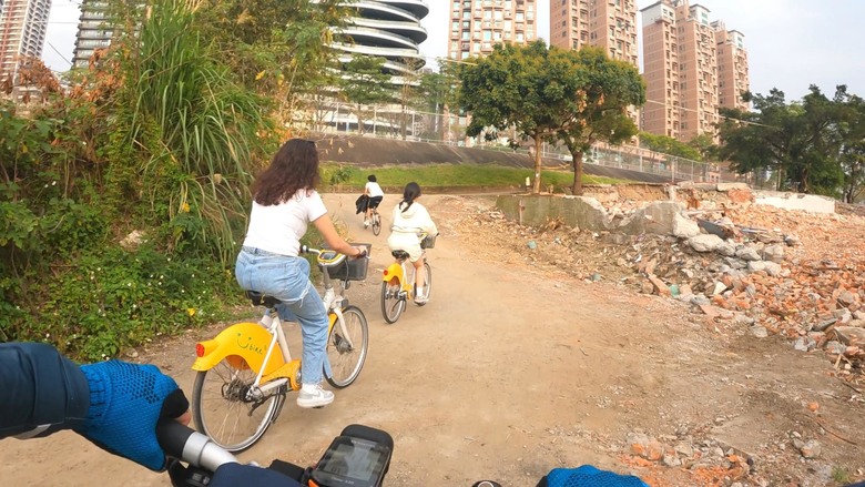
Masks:
[[[273,296],[279,318],[298,322],[304,342],[301,382],[318,384],[323,371],[330,375],[327,362],[327,311],[322,296],[309,282],[309,262],[303,257],[278,255],[243,247],[234,267],[237,284],[246,291]]]

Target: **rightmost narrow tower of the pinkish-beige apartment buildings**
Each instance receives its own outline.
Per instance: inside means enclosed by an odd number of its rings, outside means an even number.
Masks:
[[[725,109],[749,110],[750,103],[742,93],[751,89],[747,70],[745,35],[737,30],[726,30],[724,22],[714,21],[718,43],[718,104]]]

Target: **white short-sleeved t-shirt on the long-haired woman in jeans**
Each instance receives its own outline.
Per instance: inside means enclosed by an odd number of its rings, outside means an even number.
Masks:
[[[322,196],[315,190],[299,190],[285,203],[271,206],[253,201],[243,245],[279,255],[298,255],[307,224],[326,213]]]

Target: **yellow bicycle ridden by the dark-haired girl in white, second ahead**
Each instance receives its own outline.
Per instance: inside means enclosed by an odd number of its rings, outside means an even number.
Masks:
[[[436,246],[437,235],[420,234],[420,248],[424,251],[420,258],[424,260],[424,271],[426,274],[427,298],[432,292],[432,268],[427,262],[427,248]],[[385,322],[394,324],[406,311],[408,300],[417,294],[415,285],[415,266],[408,262],[408,253],[405,251],[393,251],[390,253],[396,260],[385,268],[381,282],[381,314]],[[426,303],[416,303],[423,306]]]

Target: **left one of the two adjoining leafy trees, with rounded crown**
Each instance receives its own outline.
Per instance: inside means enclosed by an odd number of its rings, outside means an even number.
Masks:
[[[515,128],[522,139],[535,143],[532,192],[540,193],[541,142],[556,135],[563,113],[578,110],[577,78],[566,51],[547,49],[542,40],[528,45],[496,44],[491,54],[460,64],[459,106],[471,116],[467,134]],[[512,144],[516,141],[511,141]]]

